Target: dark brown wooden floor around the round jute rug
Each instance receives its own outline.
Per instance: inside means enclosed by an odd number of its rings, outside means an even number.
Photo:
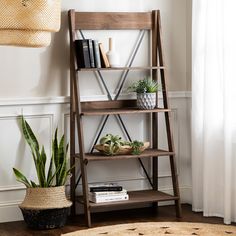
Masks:
[[[191,206],[182,205],[183,217],[177,219],[175,217],[174,206],[159,207],[158,215],[151,208],[142,208],[135,210],[123,210],[113,212],[94,213],[92,215],[92,226],[113,225],[120,223],[145,222],[145,221],[185,221],[185,222],[203,222],[223,224],[222,218],[203,217],[202,213],[192,212]],[[22,221],[0,224],[0,236],[56,236],[62,233],[68,233],[80,229],[84,229],[85,222],[82,215],[69,219],[66,226],[61,229],[34,231],[26,227]]]

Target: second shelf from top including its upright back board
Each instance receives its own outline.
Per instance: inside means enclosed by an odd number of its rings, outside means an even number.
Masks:
[[[97,116],[97,115],[116,115],[116,114],[134,114],[134,113],[154,113],[170,112],[166,108],[154,108],[142,110],[137,108],[136,100],[115,100],[115,101],[89,101],[81,102],[80,115]]]

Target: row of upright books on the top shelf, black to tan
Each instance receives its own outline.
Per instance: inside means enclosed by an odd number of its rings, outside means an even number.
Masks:
[[[93,39],[75,40],[78,68],[110,67],[102,43]]]

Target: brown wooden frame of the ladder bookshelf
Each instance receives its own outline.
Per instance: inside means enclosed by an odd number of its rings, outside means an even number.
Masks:
[[[76,30],[148,30],[151,33],[152,45],[151,45],[151,55],[152,63],[151,66],[144,67],[120,67],[120,68],[92,68],[92,69],[77,69],[76,58],[75,58],[75,48],[74,41]],[[71,153],[71,166],[75,164],[75,128],[77,126],[77,134],[79,141],[79,160],[80,168],[82,175],[82,191],[83,191],[83,205],[84,213],[87,225],[91,226],[91,208],[95,207],[109,207],[114,205],[125,205],[125,204],[137,204],[144,202],[153,203],[153,207],[158,210],[159,201],[175,201],[176,207],[176,216],[181,217],[181,204],[180,204],[180,194],[179,194],[179,185],[177,178],[177,169],[176,169],[176,160],[175,160],[175,149],[173,143],[173,135],[170,125],[171,112],[168,104],[167,97],[167,86],[166,86],[166,70],[162,49],[162,34],[161,34],[161,20],[160,20],[160,11],[153,10],[152,12],[75,12],[74,10],[69,11],[69,33],[70,33],[70,153]],[[131,63],[132,64],[132,63]],[[115,109],[102,109],[100,111],[92,111],[85,108],[85,103],[82,103],[80,100],[80,94],[78,89],[78,71],[94,71],[100,74],[100,71],[111,71],[111,70],[151,70],[152,78],[154,80],[158,79],[158,70],[160,71],[160,79],[162,85],[162,96],[164,107],[162,109],[158,108],[158,99],[156,107],[153,111],[140,111],[137,110],[134,106],[132,107],[123,107]],[[109,92],[108,95],[110,96]],[[117,98],[117,97],[116,97]],[[112,100],[112,99],[111,99]],[[116,99],[115,99],[116,100]],[[92,104],[92,103],[91,103]],[[86,104],[88,105],[88,103]],[[144,152],[143,157],[152,158],[153,162],[153,190],[143,190],[129,192],[130,200],[122,202],[112,202],[104,204],[93,204],[89,202],[88,199],[88,181],[87,181],[87,162],[95,161],[95,156],[92,154],[85,153],[84,149],[84,139],[83,139],[83,116],[84,115],[118,115],[120,114],[132,114],[132,113],[150,113],[152,116],[152,144],[153,149],[158,150],[158,113],[164,112],[165,124],[166,124],[166,133],[168,140],[168,151],[165,153],[170,160],[172,184],[173,184],[173,196],[162,193],[158,191],[158,156],[161,156],[161,153],[154,151],[152,154],[147,154],[148,150]],[[106,122],[106,120],[105,120]],[[105,125],[105,123],[104,123]],[[164,155],[164,154],[163,154]],[[140,157],[140,156],[139,156]],[[132,157],[138,158],[139,157]],[[104,160],[107,157],[101,157]],[[117,156],[112,157],[112,159],[125,159],[131,158],[129,156]],[[97,160],[97,159],[96,159]],[[106,159],[107,160],[107,159]],[[140,159],[139,159],[140,160]],[[72,170],[71,178],[71,200],[73,202],[71,208],[71,214],[75,215],[75,203],[77,197],[75,196],[75,169]]]

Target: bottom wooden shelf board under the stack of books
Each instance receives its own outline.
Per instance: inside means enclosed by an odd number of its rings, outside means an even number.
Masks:
[[[128,192],[128,195],[129,195],[129,200],[104,202],[104,203],[89,202],[89,206],[91,208],[109,207],[109,206],[131,205],[131,204],[139,204],[139,203],[171,201],[171,200],[179,199],[179,197],[177,196],[169,195],[169,194],[166,194],[160,191],[155,191],[155,190],[130,191]],[[83,204],[82,196],[76,197],[76,200],[79,203]]]

